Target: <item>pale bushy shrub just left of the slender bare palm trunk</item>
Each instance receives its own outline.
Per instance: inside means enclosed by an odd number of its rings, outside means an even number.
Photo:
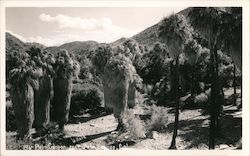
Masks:
[[[166,108],[152,105],[150,109],[151,118],[146,122],[147,132],[164,131],[168,126],[168,112]]]

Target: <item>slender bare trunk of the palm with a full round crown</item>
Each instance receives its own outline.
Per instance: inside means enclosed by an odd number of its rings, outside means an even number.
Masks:
[[[172,142],[169,149],[176,149],[176,137],[179,124],[179,57],[176,57],[176,72],[175,72],[175,122]]]

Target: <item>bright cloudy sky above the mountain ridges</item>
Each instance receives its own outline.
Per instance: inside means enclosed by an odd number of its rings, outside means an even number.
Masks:
[[[58,46],[73,41],[110,43],[131,37],[184,7],[8,7],[6,31],[24,42]]]

